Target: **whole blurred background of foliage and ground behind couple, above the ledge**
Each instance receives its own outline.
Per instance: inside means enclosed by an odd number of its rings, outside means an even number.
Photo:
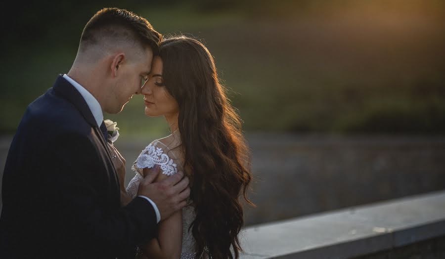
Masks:
[[[97,0],[3,9],[0,166],[27,105],[68,72],[102,7],[214,55],[255,179],[246,225],[445,189],[445,1]],[[134,96],[115,145],[131,162],[169,134]],[[2,172],[2,171],[1,171]],[[0,204],[1,205],[1,204]]]

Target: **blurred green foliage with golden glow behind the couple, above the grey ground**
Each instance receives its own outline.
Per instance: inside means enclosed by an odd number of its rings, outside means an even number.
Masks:
[[[99,0],[5,14],[0,133],[13,133],[26,106],[69,70],[83,26],[110,6],[205,43],[246,131],[445,132],[441,0]],[[105,118],[125,134],[167,131],[143,109],[134,96]]]

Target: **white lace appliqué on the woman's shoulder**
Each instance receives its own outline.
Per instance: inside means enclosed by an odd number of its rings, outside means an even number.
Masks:
[[[166,175],[178,173],[177,165],[173,162],[164,150],[156,147],[156,143],[150,143],[137,157],[132,166],[132,170],[141,173],[143,168],[152,168],[154,165],[160,165],[161,171]]]

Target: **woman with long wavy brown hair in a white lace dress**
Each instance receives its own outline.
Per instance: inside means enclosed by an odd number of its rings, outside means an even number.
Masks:
[[[156,180],[183,171],[188,205],[161,221],[158,236],[139,246],[142,258],[238,258],[243,226],[239,197],[252,175],[240,120],[219,83],[209,50],[184,36],[164,40],[143,78],[145,114],[164,116],[171,134],[151,142],[133,165],[127,192],[134,198],[141,174],[159,165]]]

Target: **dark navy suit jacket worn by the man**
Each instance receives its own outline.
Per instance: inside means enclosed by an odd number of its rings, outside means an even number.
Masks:
[[[32,102],[3,172],[0,258],[127,258],[156,235],[143,198],[120,206],[106,139],[82,95],[59,76]]]

